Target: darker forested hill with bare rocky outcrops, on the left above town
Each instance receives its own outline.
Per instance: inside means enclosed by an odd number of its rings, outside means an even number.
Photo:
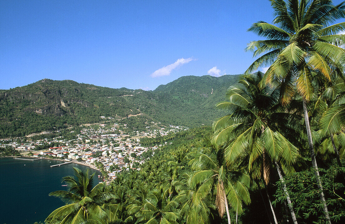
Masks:
[[[20,136],[53,127],[93,123],[100,121],[102,115],[121,119],[138,114],[136,102],[149,103],[146,99],[152,93],[133,91],[49,79],[2,90],[0,136]],[[138,96],[133,98],[133,95]]]

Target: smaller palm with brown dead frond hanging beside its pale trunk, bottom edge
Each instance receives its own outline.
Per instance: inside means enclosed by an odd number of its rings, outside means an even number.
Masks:
[[[199,156],[191,160],[192,168],[197,170],[191,174],[191,187],[195,188],[200,184],[199,193],[215,192],[215,205],[219,216],[223,217],[226,212],[230,224],[228,204],[238,213],[242,212],[242,202],[250,203],[248,189],[244,182],[240,181],[241,177],[245,176],[239,176],[239,173],[229,170],[223,149],[211,144],[210,140],[207,147],[200,147],[198,151]],[[232,175],[235,173],[237,175],[234,178]]]

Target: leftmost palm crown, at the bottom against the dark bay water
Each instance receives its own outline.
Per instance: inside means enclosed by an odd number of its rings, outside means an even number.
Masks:
[[[100,183],[93,187],[93,176],[89,172],[83,172],[77,168],[75,177],[63,177],[67,183],[68,191],[54,191],[49,196],[59,197],[67,204],[53,211],[46,219],[46,222],[53,223],[84,223],[96,222],[106,218],[106,209],[102,206],[111,202],[116,195],[105,191],[105,186]]]

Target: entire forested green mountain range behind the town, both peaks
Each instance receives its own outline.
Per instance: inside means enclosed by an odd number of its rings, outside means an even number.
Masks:
[[[95,123],[100,116],[162,124],[211,124],[214,109],[238,75],[185,76],[154,91],[111,89],[72,80],[43,79],[0,90],[0,137],[23,136],[55,128]]]

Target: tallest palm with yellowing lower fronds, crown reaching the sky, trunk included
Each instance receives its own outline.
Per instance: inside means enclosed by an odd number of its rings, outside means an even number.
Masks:
[[[273,23],[277,26],[259,21],[248,29],[267,40],[248,44],[247,50],[253,51],[254,57],[261,56],[249,66],[246,73],[269,66],[266,82],[280,85],[283,104],[292,100],[295,89],[302,96],[309,152],[324,214],[327,222],[331,223],[315,159],[307,103],[313,95],[312,75],[331,80],[332,71],[344,71],[341,59],[345,50],[336,44],[345,41],[344,35],[337,34],[345,30],[345,22],[331,26],[329,23],[345,18],[345,2],[337,6],[333,6],[330,0],[290,0],[288,3],[271,0],[271,3],[275,16]]]

